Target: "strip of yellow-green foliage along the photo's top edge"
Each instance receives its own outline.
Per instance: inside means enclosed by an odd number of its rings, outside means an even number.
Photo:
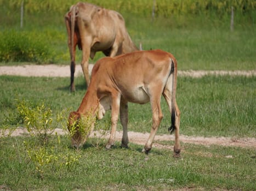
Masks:
[[[89,3],[97,4],[107,9],[115,9],[121,12],[133,13],[137,15],[149,16],[151,15],[153,1],[149,0],[90,0]],[[235,10],[241,13],[252,12],[256,8],[255,1],[252,0],[156,0],[155,1],[155,11],[159,16],[169,16],[169,15],[196,15],[196,14],[207,14],[207,12],[212,11],[216,14],[226,14],[230,12],[231,6]],[[25,7],[26,11],[29,13],[36,13],[38,11],[57,11],[58,13],[63,13],[69,10],[72,4],[77,3],[77,1],[67,1],[67,0],[56,0],[56,1],[41,1],[41,0],[26,0]],[[0,5],[8,5],[10,8],[19,8],[21,1],[9,0],[0,1]]]

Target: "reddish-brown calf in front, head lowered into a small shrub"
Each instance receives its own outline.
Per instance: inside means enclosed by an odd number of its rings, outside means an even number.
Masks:
[[[180,111],[175,100],[177,86],[177,61],[171,53],[162,50],[136,51],[116,57],[99,59],[92,71],[92,80],[81,105],[69,116],[69,129],[79,118],[89,113],[99,119],[111,109],[111,135],[106,148],[114,144],[118,115],[123,126],[122,147],[128,147],[128,102],[150,102],[152,127],[143,152],[149,153],[157,128],[163,118],[161,95],[165,98],[175,130],[174,156],[179,156]],[[79,128],[79,127],[76,127]],[[77,137],[76,137],[77,138]],[[81,139],[82,140],[82,139]],[[73,139],[72,139],[73,144]],[[83,142],[79,142],[81,146]]]

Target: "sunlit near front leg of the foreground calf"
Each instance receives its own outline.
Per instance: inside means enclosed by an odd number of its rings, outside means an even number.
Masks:
[[[109,142],[106,145],[106,148],[109,149],[111,146],[115,145],[115,136],[116,136],[116,126],[118,122],[118,115],[120,109],[120,94],[117,92],[111,92],[112,104],[111,104],[111,134]]]

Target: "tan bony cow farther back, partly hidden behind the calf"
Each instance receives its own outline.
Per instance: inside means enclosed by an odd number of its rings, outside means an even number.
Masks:
[[[127,32],[121,14],[90,3],[72,5],[65,15],[70,50],[71,91],[75,91],[75,53],[76,46],[82,50],[81,66],[87,85],[89,57],[94,58],[97,51],[106,56],[116,56],[138,50]]]

